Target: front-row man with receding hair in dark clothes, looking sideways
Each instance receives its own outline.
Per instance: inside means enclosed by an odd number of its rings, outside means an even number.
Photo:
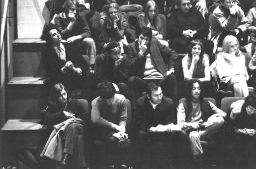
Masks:
[[[147,94],[136,101],[134,128],[137,153],[142,153],[148,140],[152,142],[157,168],[170,166],[171,150],[174,146],[173,124],[175,122],[173,102],[163,96],[161,87],[151,82]],[[142,155],[141,157],[144,157]]]

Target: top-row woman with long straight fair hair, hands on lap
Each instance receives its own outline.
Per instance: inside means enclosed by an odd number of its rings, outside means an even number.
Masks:
[[[169,47],[168,41],[163,40],[164,28],[162,20],[159,17],[158,5],[154,0],[149,0],[145,7],[145,14],[138,16],[138,26],[143,28],[147,26],[152,29],[152,38],[160,41],[161,44]]]

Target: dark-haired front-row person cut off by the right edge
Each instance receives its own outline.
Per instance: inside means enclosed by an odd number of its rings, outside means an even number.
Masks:
[[[244,102],[243,102],[244,101]],[[233,154],[238,168],[253,169],[256,165],[256,97],[248,96],[231,105],[234,126]]]

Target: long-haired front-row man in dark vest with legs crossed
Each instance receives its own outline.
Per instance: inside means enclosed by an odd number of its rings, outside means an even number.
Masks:
[[[213,136],[224,123],[226,113],[210,101],[204,101],[200,80],[191,79],[186,86],[186,101],[178,106],[177,124],[181,124],[190,140],[195,167],[202,168],[203,149],[200,140]]]

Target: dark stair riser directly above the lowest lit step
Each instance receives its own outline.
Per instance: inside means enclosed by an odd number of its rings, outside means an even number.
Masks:
[[[37,85],[9,85],[7,88],[8,119],[38,119],[47,104],[48,90]]]

